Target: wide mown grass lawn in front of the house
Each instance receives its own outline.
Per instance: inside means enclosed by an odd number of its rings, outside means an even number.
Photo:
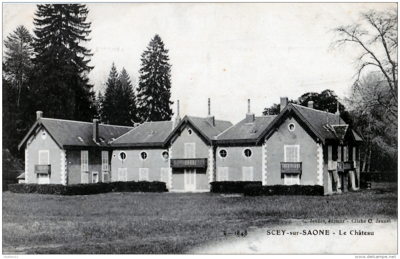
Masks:
[[[398,215],[397,183],[325,197],[2,195],[3,249],[6,244],[28,253],[187,253],[227,239],[224,230],[282,224],[281,219]]]

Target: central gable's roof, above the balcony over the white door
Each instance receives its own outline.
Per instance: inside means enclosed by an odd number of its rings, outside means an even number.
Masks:
[[[225,131],[227,128],[231,127],[233,124],[226,120],[214,120],[214,125],[207,121],[207,118],[184,116],[179,124],[176,126],[174,131],[168,136],[166,142],[180,130],[183,123],[191,124],[199,133],[204,137],[209,143],[216,140],[216,137]]]

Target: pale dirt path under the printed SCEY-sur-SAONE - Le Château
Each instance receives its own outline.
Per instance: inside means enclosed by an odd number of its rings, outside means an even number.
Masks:
[[[251,230],[246,237],[232,235],[232,238],[226,241],[193,250],[191,253],[398,253],[397,220],[391,219],[390,223],[376,223],[376,220],[376,218],[372,219],[373,223],[368,223],[368,219],[366,223],[352,223],[352,219],[346,219],[343,223],[328,223],[328,219],[325,219],[326,224],[292,220],[284,225]],[[277,232],[277,230],[280,231]],[[282,235],[283,230],[284,235]],[[358,233],[359,231],[370,232],[370,234],[374,232],[374,235],[355,235],[355,230]],[[303,231],[306,235],[303,235]],[[290,235],[290,232],[298,232],[299,235]],[[344,232],[346,232],[345,235]],[[280,235],[276,235],[277,233]],[[326,235],[327,233],[329,235]]]

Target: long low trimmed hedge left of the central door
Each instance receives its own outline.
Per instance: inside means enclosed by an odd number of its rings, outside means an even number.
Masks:
[[[56,185],[37,183],[21,183],[8,185],[8,190],[14,193],[39,193],[52,195],[91,195],[110,192],[142,192],[142,193],[162,193],[167,192],[164,182],[110,182],[110,183],[89,183],[76,185]]]

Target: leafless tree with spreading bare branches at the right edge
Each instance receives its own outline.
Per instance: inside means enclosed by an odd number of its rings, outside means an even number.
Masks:
[[[354,44],[362,50],[358,56],[358,71],[353,90],[364,93],[362,98],[349,100],[362,109],[380,105],[397,117],[398,109],[398,68],[397,68],[397,10],[384,12],[369,11],[360,14],[358,23],[335,28],[336,41],[332,48]],[[361,78],[366,72],[377,72],[382,80],[375,81],[373,87],[365,87]],[[386,87],[386,89],[384,89]]]

